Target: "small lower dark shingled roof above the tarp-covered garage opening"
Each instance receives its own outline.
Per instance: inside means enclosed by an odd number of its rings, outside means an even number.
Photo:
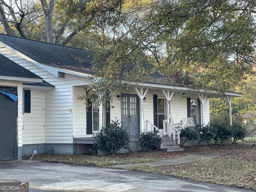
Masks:
[[[0,54],[0,75],[24,78],[42,79],[24,67]]]

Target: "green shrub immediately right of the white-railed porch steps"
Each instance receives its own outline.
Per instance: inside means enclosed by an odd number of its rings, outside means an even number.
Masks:
[[[183,146],[188,140],[198,139],[197,127],[186,127],[180,131],[180,146]]]

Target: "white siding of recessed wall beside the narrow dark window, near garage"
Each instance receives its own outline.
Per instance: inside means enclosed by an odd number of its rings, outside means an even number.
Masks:
[[[44,96],[42,90],[30,90],[31,112],[23,114],[23,144],[44,143]]]

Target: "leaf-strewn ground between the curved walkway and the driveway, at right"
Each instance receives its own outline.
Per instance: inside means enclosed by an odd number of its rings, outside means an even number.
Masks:
[[[160,166],[154,173],[200,182],[256,190],[256,145],[219,144],[184,147],[188,151],[214,152],[219,158],[175,166]]]

